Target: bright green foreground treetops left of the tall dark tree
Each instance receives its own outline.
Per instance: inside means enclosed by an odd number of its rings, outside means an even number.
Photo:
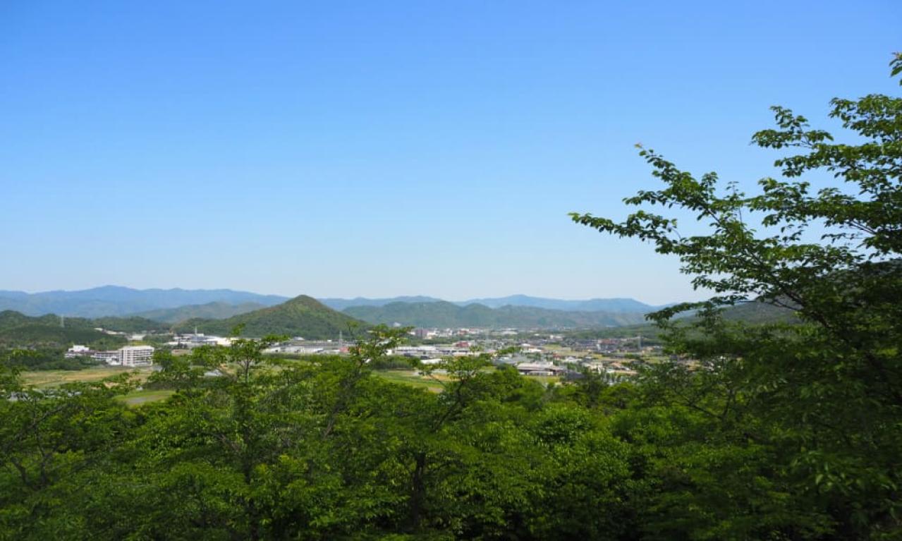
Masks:
[[[601,415],[484,355],[440,394],[372,377],[400,331],[349,356],[278,362],[270,340],[158,355],[170,400],[119,378],[24,388],[0,374],[8,538],[625,535],[628,446]],[[376,362],[375,364],[378,364]],[[210,374],[221,374],[213,376]],[[588,399],[582,400],[585,403]],[[595,400],[598,401],[598,400]],[[605,513],[596,512],[599,507]],[[403,538],[402,536],[395,538]]]

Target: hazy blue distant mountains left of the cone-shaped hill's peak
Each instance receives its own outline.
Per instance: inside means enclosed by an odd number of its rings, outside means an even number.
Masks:
[[[27,316],[126,316],[161,308],[223,302],[237,305],[253,302],[272,306],[288,300],[278,295],[258,295],[232,289],[131,289],[103,286],[79,291],[0,290],[0,310],[15,310]]]

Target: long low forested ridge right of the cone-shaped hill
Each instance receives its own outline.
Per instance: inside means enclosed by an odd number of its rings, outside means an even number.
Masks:
[[[446,301],[393,302],[383,307],[348,307],[344,313],[373,324],[400,323],[422,327],[598,328],[636,324],[641,313],[576,312],[538,307],[464,307]]]

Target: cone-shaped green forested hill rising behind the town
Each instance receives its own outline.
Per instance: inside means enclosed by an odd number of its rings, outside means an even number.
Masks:
[[[317,299],[301,295],[281,305],[254,310],[226,319],[188,319],[174,326],[177,332],[207,335],[228,335],[236,326],[244,326],[244,336],[290,335],[308,339],[336,338],[339,332],[347,333],[349,326],[365,327],[362,321],[336,312]]]

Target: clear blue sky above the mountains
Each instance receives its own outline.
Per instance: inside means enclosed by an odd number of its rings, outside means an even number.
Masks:
[[[769,105],[896,94],[902,2],[0,2],[0,289],[699,298],[642,142],[751,186]]]

